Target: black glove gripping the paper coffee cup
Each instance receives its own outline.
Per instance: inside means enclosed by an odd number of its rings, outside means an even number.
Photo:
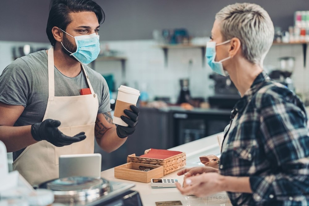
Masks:
[[[139,109],[134,106],[134,105],[130,105],[130,108],[132,109],[125,109],[123,110],[123,112],[128,115],[129,118],[127,118],[126,116],[121,116],[120,118],[122,119],[122,121],[124,121],[125,123],[127,123],[129,126],[125,127],[125,126],[121,126],[118,125],[117,126],[117,135],[120,138],[125,138],[128,135],[132,135],[135,131],[136,125],[138,123],[138,114],[139,114]]]

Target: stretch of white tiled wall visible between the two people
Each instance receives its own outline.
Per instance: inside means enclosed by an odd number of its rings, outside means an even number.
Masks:
[[[209,80],[210,69],[202,67],[201,49],[169,49],[168,66],[164,65],[163,50],[152,40],[144,41],[112,41],[102,42],[110,49],[121,50],[128,58],[125,67],[125,79],[121,79],[120,62],[95,63],[95,70],[102,73],[114,73],[116,87],[124,82],[128,86],[142,89],[147,85],[150,98],[155,96],[171,97],[176,101],[180,91],[179,79],[190,79],[190,90],[193,97],[206,97],[213,92],[209,89],[212,80]],[[189,64],[192,60],[192,64]]]

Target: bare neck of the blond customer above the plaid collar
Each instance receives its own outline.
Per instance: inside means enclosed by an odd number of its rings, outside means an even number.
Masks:
[[[230,65],[229,74],[232,82],[243,97],[245,92],[251,87],[256,77],[263,71],[258,64],[252,64],[241,58]]]

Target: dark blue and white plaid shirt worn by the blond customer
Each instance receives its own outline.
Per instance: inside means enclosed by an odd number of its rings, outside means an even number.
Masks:
[[[220,157],[222,175],[249,177],[233,205],[309,205],[309,137],[302,101],[263,72],[234,107]]]

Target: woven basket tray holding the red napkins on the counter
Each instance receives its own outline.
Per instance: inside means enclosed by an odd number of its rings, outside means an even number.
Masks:
[[[145,150],[147,154],[150,149]],[[136,157],[135,154],[128,155],[127,162],[138,162],[149,165],[163,166],[164,175],[179,170],[186,165],[186,153],[182,152],[180,154],[168,157],[166,159],[154,159],[148,157]]]

